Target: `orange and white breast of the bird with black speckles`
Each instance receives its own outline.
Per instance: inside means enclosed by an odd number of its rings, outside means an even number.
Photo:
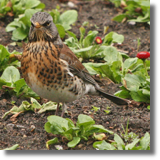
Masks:
[[[39,96],[55,102],[71,102],[85,92],[83,81],[71,74],[50,42],[29,43],[21,59],[22,75]]]

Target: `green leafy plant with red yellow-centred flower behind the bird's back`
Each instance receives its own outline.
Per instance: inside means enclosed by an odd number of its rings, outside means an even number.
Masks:
[[[79,40],[74,33],[67,31],[69,38],[65,40],[65,44],[82,59],[102,59],[105,57],[106,46],[112,43],[122,43],[124,40],[123,35],[110,32],[103,38],[102,43],[102,39],[97,37],[98,31],[89,31],[86,36],[86,30],[83,26],[80,27],[79,31]]]

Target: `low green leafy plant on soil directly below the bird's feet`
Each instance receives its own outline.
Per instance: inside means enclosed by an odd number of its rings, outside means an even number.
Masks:
[[[60,134],[69,141],[68,147],[74,148],[81,139],[88,140],[89,136],[93,136],[94,133],[110,133],[113,134],[112,131],[105,129],[102,125],[95,125],[95,121],[87,115],[80,114],[78,116],[78,120],[76,125],[72,120],[68,118],[62,118],[59,116],[49,116],[48,122],[45,123],[45,130],[48,133],[52,134]],[[104,135],[94,137],[104,137]],[[52,143],[51,143],[52,142]],[[57,138],[50,140],[47,144],[54,144],[57,142]],[[48,145],[47,145],[48,146]]]

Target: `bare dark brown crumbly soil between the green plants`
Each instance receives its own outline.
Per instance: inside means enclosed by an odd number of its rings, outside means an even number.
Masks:
[[[59,1],[42,0],[46,4],[46,9],[51,10],[56,7],[57,4],[63,10],[69,9],[67,3],[60,3]],[[125,41],[122,45],[117,45],[119,49],[126,50],[128,54],[134,57],[137,53],[137,38],[141,39],[141,45],[139,51],[150,50],[150,27],[147,24],[129,25],[128,23],[117,23],[111,19],[118,14],[117,9],[111,4],[105,4],[102,1],[88,2],[85,4],[77,5],[78,20],[72,27],[77,37],[80,36],[79,27],[84,21],[89,21],[89,30],[97,30],[99,27],[99,36],[103,35],[104,26],[109,26],[110,31],[115,31],[119,34],[123,34]],[[11,33],[5,32],[6,25],[13,19],[5,17],[0,19],[0,44],[7,46],[12,42]],[[95,26],[96,25],[96,26]],[[22,51],[22,47],[10,46],[9,50]],[[119,90],[119,86],[104,80],[105,85],[102,86],[108,93],[114,94]],[[9,96],[7,93],[0,92],[0,117],[12,108],[12,101],[16,101],[16,105],[20,105],[24,99],[17,99],[15,96]],[[29,101],[29,99],[28,99]],[[41,102],[42,103],[42,102]],[[91,112],[92,106],[100,107],[101,110],[93,114]],[[106,114],[104,110],[106,107],[110,107],[110,113]],[[114,131],[115,133],[122,133],[122,125],[126,127],[127,120],[129,119],[129,131],[132,131],[143,136],[146,132],[150,132],[150,111],[146,108],[146,104],[140,104],[137,107],[118,106],[103,97],[85,96],[80,100],[76,100],[68,104],[68,115],[64,117],[71,118],[74,122],[77,121],[77,116],[80,113],[91,115],[96,121],[96,124],[101,124],[105,128]],[[53,138],[52,134],[48,134],[44,130],[44,124],[47,121],[47,116],[54,114],[54,112],[46,112],[43,114],[37,114],[33,112],[26,112],[20,114],[16,121],[11,121],[10,116],[5,119],[0,118],[0,148],[10,147],[14,144],[19,144],[18,149],[46,149],[45,143],[47,140]],[[59,113],[60,115],[61,113]],[[109,136],[112,139],[113,136]],[[67,147],[67,142],[60,139],[60,144],[63,149]],[[93,140],[81,141],[80,144],[74,149],[90,150]],[[55,149],[54,145],[50,146],[50,149]]]

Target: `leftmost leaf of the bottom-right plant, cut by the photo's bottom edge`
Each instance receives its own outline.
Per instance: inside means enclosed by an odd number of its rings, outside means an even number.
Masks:
[[[94,142],[93,147],[99,150],[116,150],[113,145],[107,143],[105,140]]]

